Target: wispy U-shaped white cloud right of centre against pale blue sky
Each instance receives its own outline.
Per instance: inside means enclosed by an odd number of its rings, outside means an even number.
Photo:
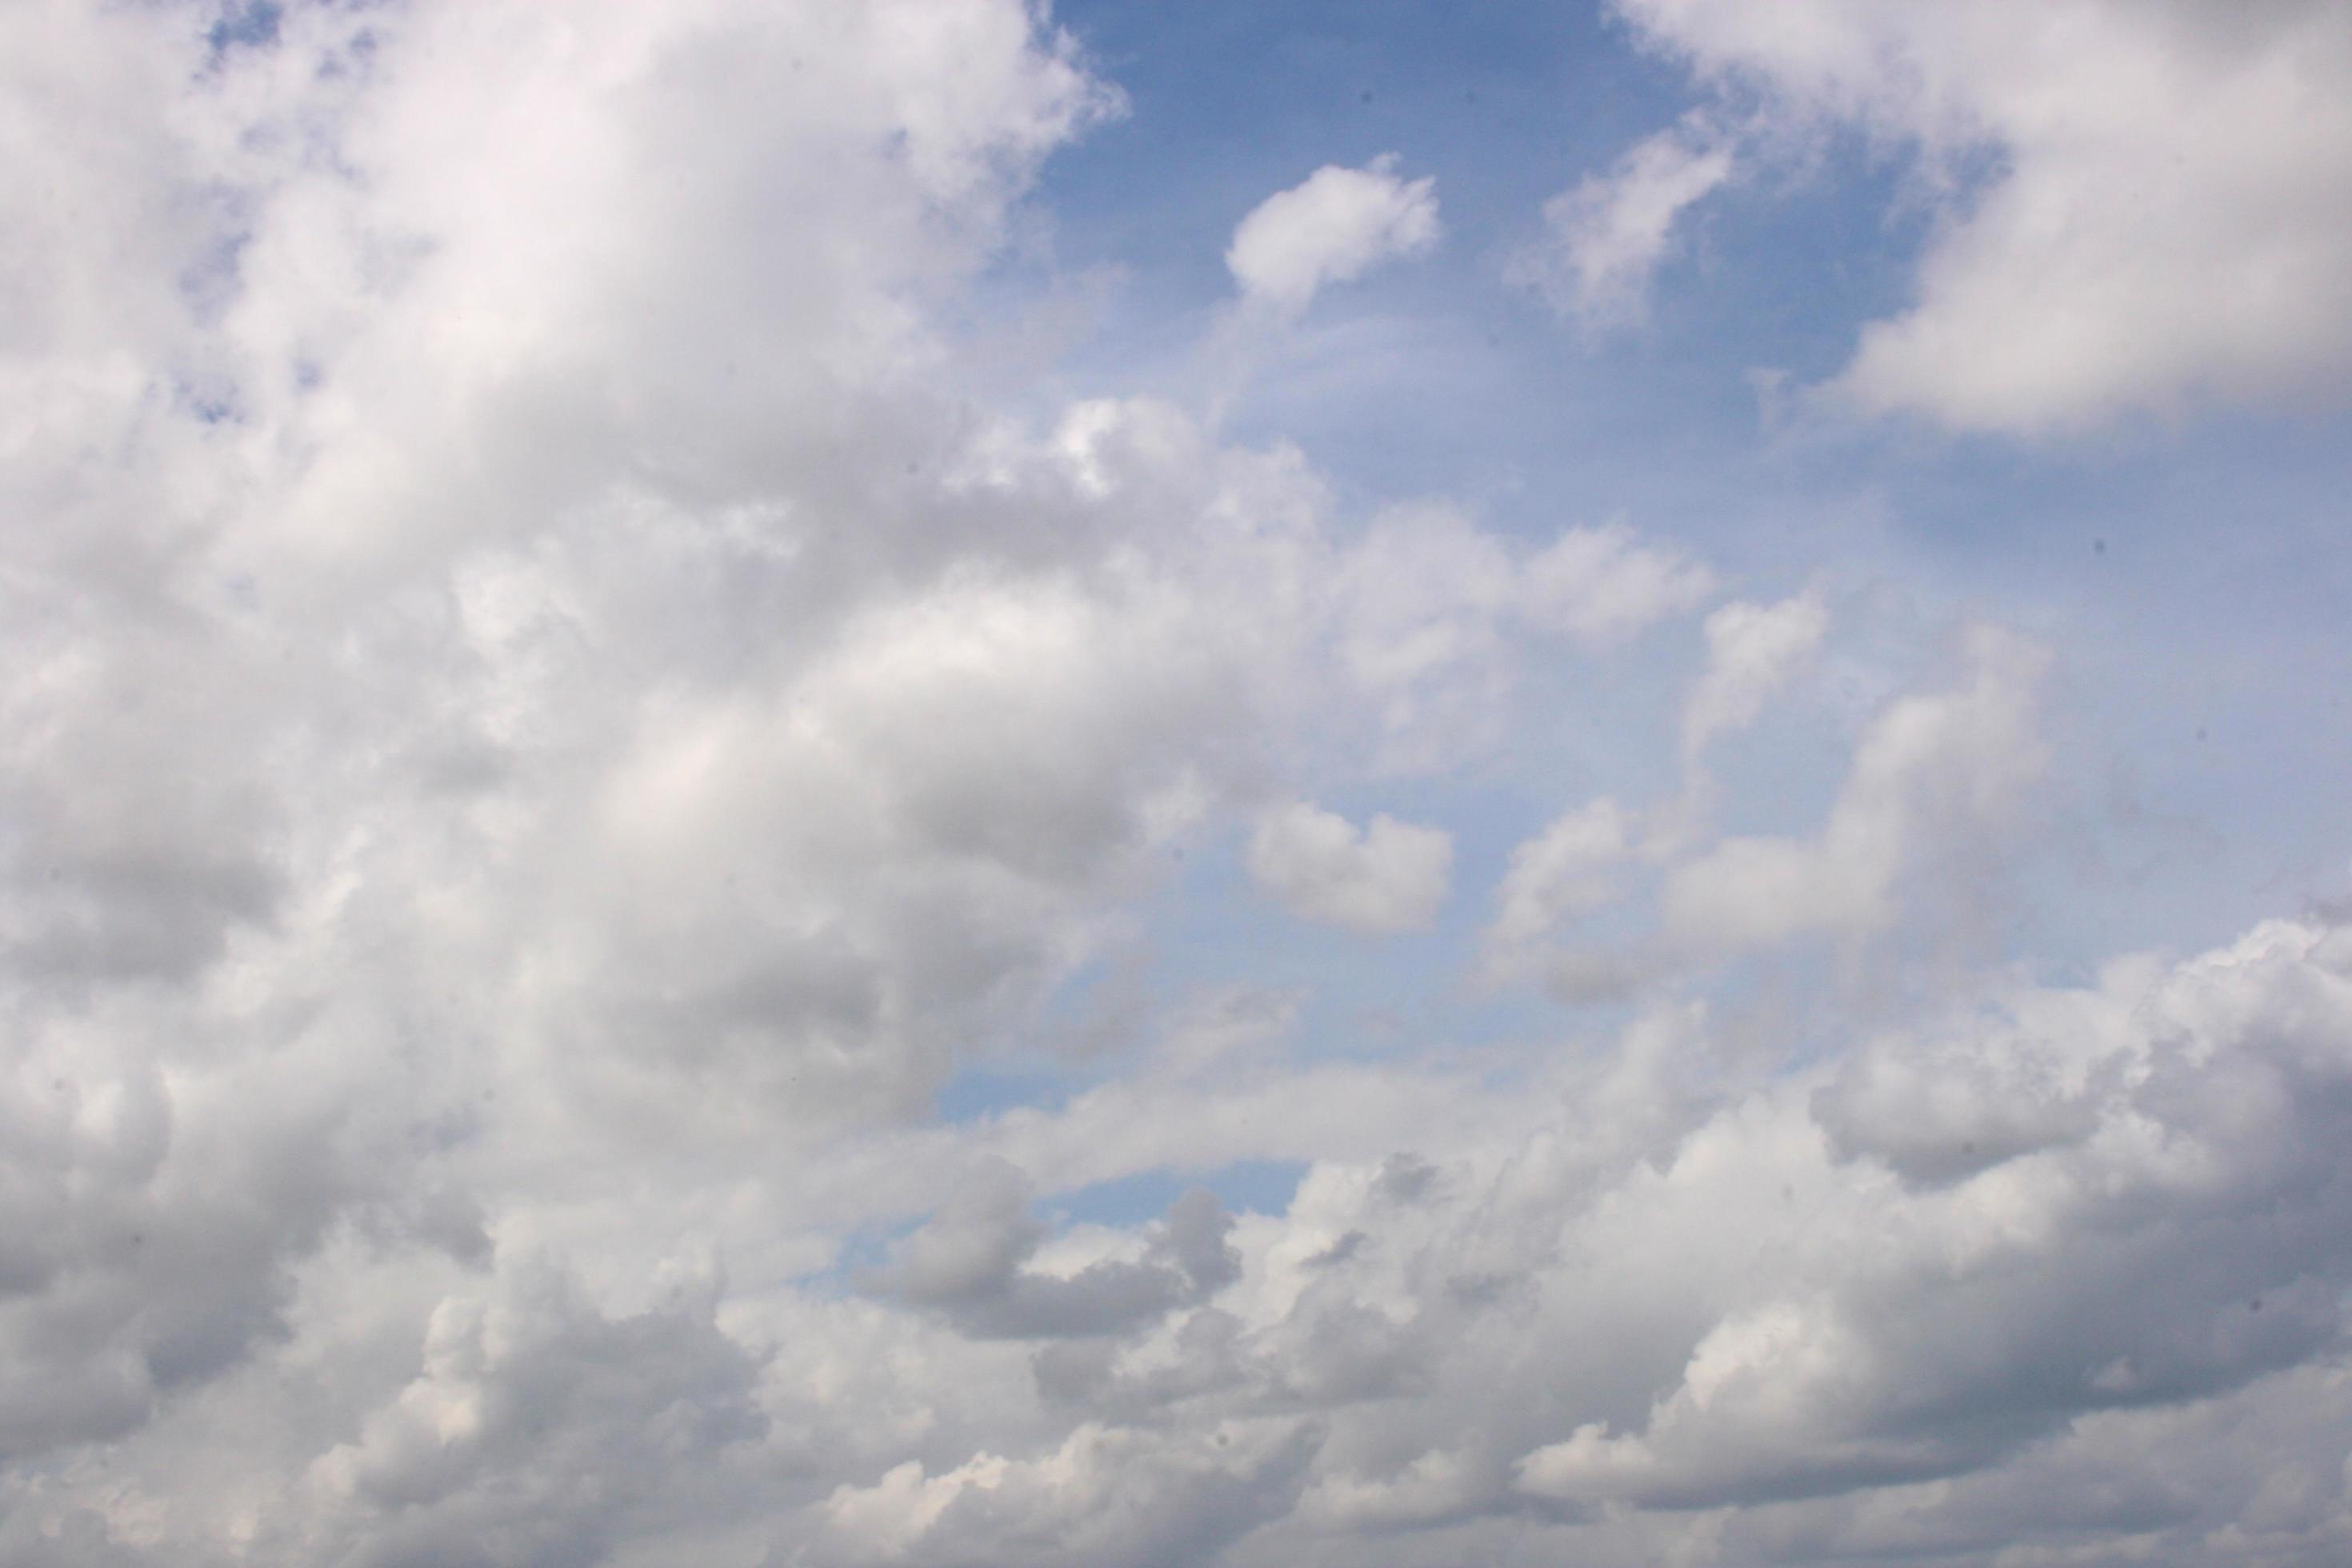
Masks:
[[[1809,658],[1823,630],[1811,595],[1729,604],[1708,618],[1710,658],[1684,705],[1684,766],[1719,724],[1745,719]],[[1856,738],[1813,832],[1719,832],[1705,780],[1632,811],[1602,797],[1510,853],[1482,938],[1494,983],[1538,980],[1566,1001],[1623,999],[1668,976],[1828,938],[1929,936],[1966,947],[2032,830],[2049,764],[2039,689],[2046,649],[1976,625],[1957,679],[1898,693]],[[1609,917],[1609,933],[1581,931]],[[1649,914],[1651,929],[1623,936]]]

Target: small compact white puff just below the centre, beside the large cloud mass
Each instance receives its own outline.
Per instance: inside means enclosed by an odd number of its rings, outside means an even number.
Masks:
[[[1425,931],[1454,877],[1454,835],[1392,816],[1359,830],[1298,802],[1258,820],[1249,875],[1301,919],[1369,936]]]

